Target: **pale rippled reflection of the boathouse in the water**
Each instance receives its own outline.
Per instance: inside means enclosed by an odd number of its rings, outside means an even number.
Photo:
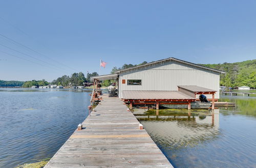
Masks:
[[[219,109],[206,110],[205,113],[195,110],[134,111],[136,118],[142,123],[155,142],[162,148],[194,147],[203,141],[218,138]],[[158,114],[158,115],[157,115]]]

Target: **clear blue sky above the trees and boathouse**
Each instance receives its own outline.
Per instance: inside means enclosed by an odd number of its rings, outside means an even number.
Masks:
[[[75,70],[99,73],[100,59],[108,63],[101,74],[168,57],[202,64],[252,60],[255,9],[256,1],[233,0],[3,0],[0,34],[44,56],[0,36],[0,51],[6,52],[0,52],[0,79],[52,81]]]

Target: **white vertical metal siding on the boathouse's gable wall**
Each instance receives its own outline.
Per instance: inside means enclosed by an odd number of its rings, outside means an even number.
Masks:
[[[125,79],[125,84],[122,83]],[[127,85],[127,79],[141,79],[142,85]],[[178,63],[175,61],[152,65],[143,69],[121,72],[119,76],[119,97],[122,90],[178,91],[177,86],[199,86],[218,91],[220,75],[218,72]],[[211,98],[211,95],[206,95]]]

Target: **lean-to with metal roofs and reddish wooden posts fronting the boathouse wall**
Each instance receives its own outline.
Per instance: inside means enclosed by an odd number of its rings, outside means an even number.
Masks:
[[[169,108],[215,108],[214,94],[216,91],[198,86],[178,86],[179,91],[122,91],[123,101],[133,105],[163,105]],[[197,102],[197,94],[212,94],[211,103]],[[179,105],[179,106],[177,106]]]

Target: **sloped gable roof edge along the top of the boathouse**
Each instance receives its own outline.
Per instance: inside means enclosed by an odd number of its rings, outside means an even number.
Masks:
[[[167,58],[167,59],[163,59],[163,60],[159,60],[159,61],[154,61],[154,62],[147,63],[147,64],[140,65],[140,66],[134,66],[134,67],[131,67],[131,68],[121,69],[121,70],[119,70],[119,71],[116,71],[116,73],[120,73],[120,72],[123,72],[123,71],[132,70],[132,69],[137,69],[137,68],[142,68],[142,67],[146,67],[146,66],[150,66],[150,65],[154,65],[154,64],[159,64],[159,63],[166,62],[166,61],[176,61],[176,62],[180,62],[180,63],[183,63],[183,64],[187,64],[187,65],[199,67],[199,68],[202,68],[202,69],[211,70],[211,71],[214,71],[214,72],[225,73],[224,71],[221,71],[221,70],[218,70],[218,69],[205,67],[205,66],[202,66],[202,65],[190,63],[190,62],[183,61],[183,60],[179,60],[179,59],[172,58],[172,57]]]

